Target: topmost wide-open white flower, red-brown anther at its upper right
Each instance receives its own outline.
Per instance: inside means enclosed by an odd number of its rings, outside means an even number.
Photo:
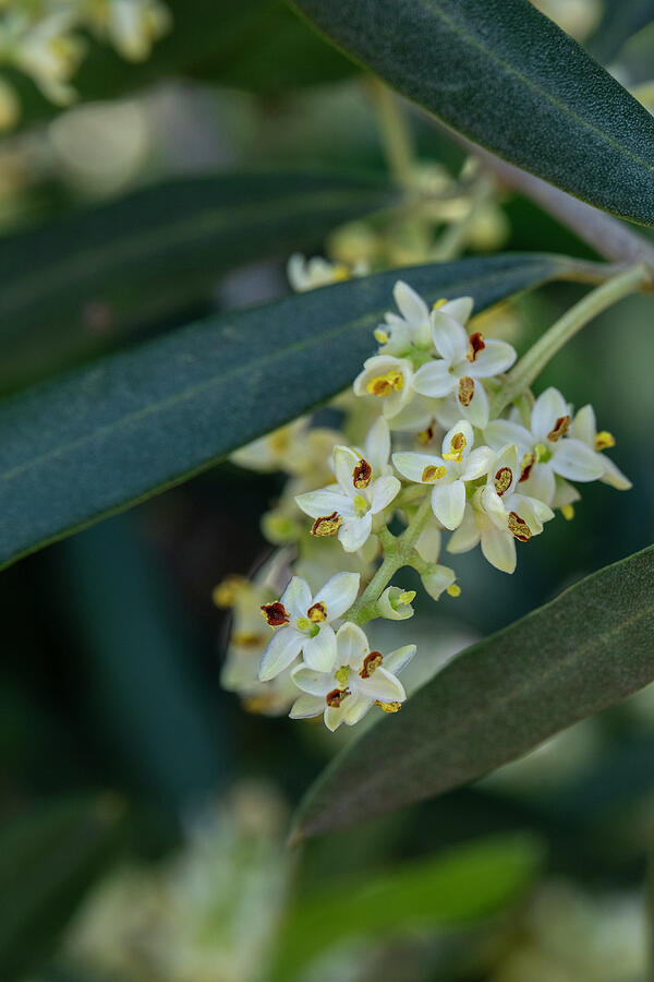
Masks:
[[[432,313],[432,339],[440,358],[417,369],[411,381],[414,391],[432,398],[453,396],[474,426],[485,427],[488,396],[480,379],[509,369],[516,360],[514,349],[507,342],[484,338],[479,331],[469,337],[445,307]]]

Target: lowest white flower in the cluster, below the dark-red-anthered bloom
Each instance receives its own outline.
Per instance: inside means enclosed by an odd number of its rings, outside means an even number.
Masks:
[[[328,671],[299,664],[293,682],[304,695],[293,704],[292,719],[324,715],[325,726],[336,730],[342,722],[354,726],[375,703],[389,712],[407,698],[396,678],[415,654],[415,645],[404,645],[391,655],[371,651],[361,627],[346,623],[336,635],[336,659]]]

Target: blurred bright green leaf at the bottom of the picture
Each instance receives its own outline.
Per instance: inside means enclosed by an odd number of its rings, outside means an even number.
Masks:
[[[535,837],[495,836],[304,899],[281,926],[272,980],[293,978],[349,937],[379,943],[415,929],[458,926],[494,914],[524,893],[542,860]]]

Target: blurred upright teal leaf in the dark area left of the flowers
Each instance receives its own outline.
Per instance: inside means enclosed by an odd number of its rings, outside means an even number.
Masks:
[[[89,733],[138,792],[179,812],[217,793],[227,741],[179,596],[138,531],[123,515],[68,542],[61,603],[88,664]]]

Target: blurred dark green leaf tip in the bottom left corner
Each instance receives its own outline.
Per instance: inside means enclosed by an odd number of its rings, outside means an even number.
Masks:
[[[0,826],[0,978],[12,982],[46,958],[120,838],[110,798],[43,805]]]

